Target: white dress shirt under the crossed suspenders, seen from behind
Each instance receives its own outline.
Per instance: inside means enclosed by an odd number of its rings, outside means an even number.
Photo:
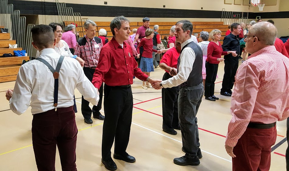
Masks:
[[[43,49],[40,58],[46,60],[54,69],[60,55],[54,49]],[[96,105],[99,100],[96,88],[84,75],[83,69],[75,59],[64,57],[59,71],[58,105],[73,106],[74,89],[84,96],[84,99]],[[18,72],[10,109],[17,115],[24,113],[29,104],[31,113],[41,113],[54,109],[54,78],[50,69],[38,60],[23,64]],[[31,103],[30,103],[31,100]]]

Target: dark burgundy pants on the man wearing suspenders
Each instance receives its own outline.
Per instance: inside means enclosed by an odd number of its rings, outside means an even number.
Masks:
[[[32,141],[38,170],[55,171],[56,145],[62,170],[76,169],[77,127],[73,106],[33,115]]]

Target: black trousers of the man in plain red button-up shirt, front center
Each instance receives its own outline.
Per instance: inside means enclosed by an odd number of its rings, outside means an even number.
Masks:
[[[132,88],[104,85],[105,120],[102,130],[101,154],[103,160],[111,158],[111,148],[115,139],[114,153],[126,154],[132,124]]]

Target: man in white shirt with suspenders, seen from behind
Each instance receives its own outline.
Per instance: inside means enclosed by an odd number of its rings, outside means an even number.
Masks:
[[[8,90],[6,98],[10,109],[18,115],[31,106],[32,142],[38,170],[55,170],[57,145],[62,170],[74,171],[77,170],[74,89],[93,105],[97,105],[99,96],[81,65],[55,52],[56,39],[50,26],[36,25],[31,32],[32,45],[40,51],[40,56],[20,67],[14,90]]]

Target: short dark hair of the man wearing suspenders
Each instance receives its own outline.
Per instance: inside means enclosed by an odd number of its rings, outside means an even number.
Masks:
[[[54,32],[49,25],[36,25],[31,29],[32,39],[38,48],[48,48],[53,46]]]

